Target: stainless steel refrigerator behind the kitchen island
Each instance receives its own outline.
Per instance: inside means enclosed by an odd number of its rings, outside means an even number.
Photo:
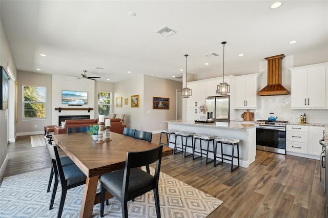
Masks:
[[[230,96],[208,97],[206,106],[216,122],[230,122]]]

